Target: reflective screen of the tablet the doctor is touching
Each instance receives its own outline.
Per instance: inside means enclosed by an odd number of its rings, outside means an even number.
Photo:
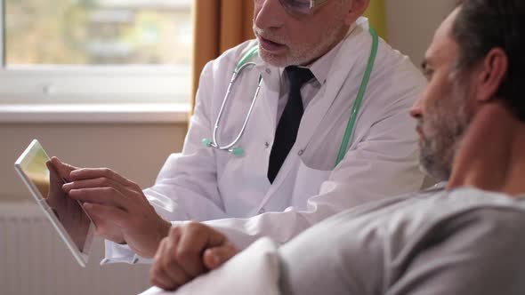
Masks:
[[[31,148],[20,168],[40,193],[39,197],[44,198],[49,205],[77,249],[85,252],[85,247],[89,247],[86,239],[88,239],[91,219],[80,203],[69,198],[62,190],[65,182],[53,168],[44,149],[40,145]]]

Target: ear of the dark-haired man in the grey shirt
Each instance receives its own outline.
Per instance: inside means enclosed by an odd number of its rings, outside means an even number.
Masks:
[[[482,103],[494,99],[508,72],[508,57],[505,51],[501,48],[490,50],[476,71],[476,100]]]

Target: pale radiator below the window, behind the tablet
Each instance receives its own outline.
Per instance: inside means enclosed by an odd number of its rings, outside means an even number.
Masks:
[[[136,294],[149,287],[149,266],[100,266],[103,241],[93,241],[80,267],[34,203],[0,203],[1,295]]]

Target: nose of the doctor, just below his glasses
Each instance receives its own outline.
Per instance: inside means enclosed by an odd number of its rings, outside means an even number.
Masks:
[[[283,13],[279,0],[254,0],[254,26],[261,29],[282,27]]]

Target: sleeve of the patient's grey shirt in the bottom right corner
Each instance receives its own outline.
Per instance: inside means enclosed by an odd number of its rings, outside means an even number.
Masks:
[[[387,295],[525,294],[525,216],[497,208],[441,221],[393,261]]]

